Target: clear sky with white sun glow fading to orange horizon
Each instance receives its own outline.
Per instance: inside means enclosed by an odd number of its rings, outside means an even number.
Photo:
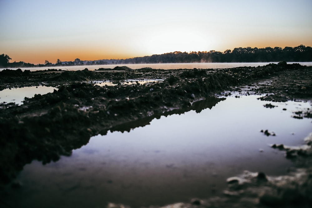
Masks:
[[[312,46],[311,10],[311,0],[0,0],[0,54],[43,64]]]

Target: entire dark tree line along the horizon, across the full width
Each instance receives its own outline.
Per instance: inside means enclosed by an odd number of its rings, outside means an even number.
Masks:
[[[50,63],[48,60],[44,64],[34,65],[31,63],[12,62],[8,55],[0,55],[1,67],[40,67],[40,66],[69,66],[69,65],[105,65],[105,64],[155,64],[155,63],[222,63],[222,62],[280,62],[280,61],[312,61],[312,47],[296,46],[296,47],[265,47],[265,48],[234,48],[233,51],[192,51],[181,52],[175,51],[160,55],[135,57],[129,59],[103,59],[94,61],[82,61],[76,58],[74,61],[62,62],[57,59],[56,63]]]

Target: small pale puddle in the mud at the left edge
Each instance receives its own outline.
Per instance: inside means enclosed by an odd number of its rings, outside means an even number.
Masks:
[[[58,90],[55,87],[47,87],[47,86],[32,86],[32,87],[20,87],[20,88],[12,88],[12,89],[4,89],[0,91],[0,103],[16,103],[23,104],[23,100],[25,97],[32,98],[35,94],[48,94],[53,91]]]

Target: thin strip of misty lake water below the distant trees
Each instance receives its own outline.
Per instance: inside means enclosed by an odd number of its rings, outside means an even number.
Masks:
[[[32,68],[22,68],[22,70],[48,70],[48,69],[61,69],[61,70],[84,70],[88,68],[89,70],[95,70],[99,68],[115,68],[116,66],[127,66],[131,69],[141,69],[144,67],[150,67],[152,69],[224,69],[224,68],[234,68],[240,66],[264,66],[270,63],[277,62],[257,62],[257,63],[182,63],[182,64],[117,64],[117,65],[82,65],[82,66],[49,66],[49,67],[32,67]],[[288,62],[288,64],[299,63],[301,65],[312,66],[312,62]],[[16,70],[17,68],[11,68]],[[3,69],[0,69],[0,71]]]

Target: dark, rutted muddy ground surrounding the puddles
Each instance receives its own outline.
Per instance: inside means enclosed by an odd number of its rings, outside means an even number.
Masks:
[[[69,156],[72,150],[87,144],[91,136],[105,135],[109,130],[128,131],[136,127],[127,125],[131,121],[144,126],[161,115],[211,108],[222,96],[266,94],[261,99],[271,101],[273,106],[274,101],[311,101],[311,78],[312,67],[285,62],[218,70],[128,67],[96,71],[3,70],[0,90],[38,85],[58,90],[25,98],[22,105],[0,104],[0,185],[18,186],[14,178],[25,164],[35,159],[45,164],[59,160],[61,155]],[[129,79],[163,81],[121,84]],[[94,85],[99,81],[117,85]],[[209,100],[214,97],[215,102],[205,102],[208,97]],[[300,117],[311,118],[311,109],[301,112]],[[311,142],[305,148],[278,148],[290,152],[288,157],[303,169],[292,170],[285,178],[246,172],[229,179],[229,189],[222,197],[194,199],[189,204],[172,207],[310,207]]]

